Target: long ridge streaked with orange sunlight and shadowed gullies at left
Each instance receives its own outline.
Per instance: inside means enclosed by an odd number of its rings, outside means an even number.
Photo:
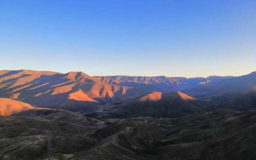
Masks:
[[[69,99],[70,94],[78,94],[77,92],[80,92],[79,98],[76,95],[76,98]],[[142,92],[132,87],[104,83],[83,72],[61,74],[33,70],[0,71],[0,97],[21,100],[40,107],[76,110],[72,107],[81,109]]]

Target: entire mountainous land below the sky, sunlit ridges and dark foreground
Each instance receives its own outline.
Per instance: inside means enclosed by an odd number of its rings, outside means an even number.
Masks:
[[[0,160],[256,158],[256,72],[0,71]]]

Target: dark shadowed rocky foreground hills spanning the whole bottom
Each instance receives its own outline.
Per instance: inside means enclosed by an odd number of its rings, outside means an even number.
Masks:
[[[0,116],[1,160],[251,160],[256,112],[87,118],[60,110]]]

